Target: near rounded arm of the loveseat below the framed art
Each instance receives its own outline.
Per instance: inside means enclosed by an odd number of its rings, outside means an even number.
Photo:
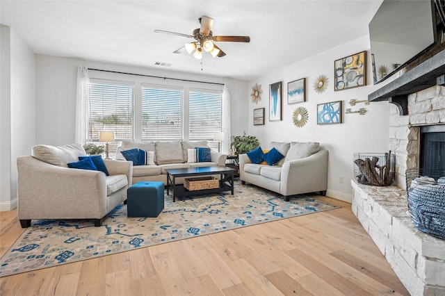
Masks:
[[[328,151],[321,149],[311,156],[295,161],[286,161],[282,165],[282,195],[292,192],[314,192],[327,190]]]

